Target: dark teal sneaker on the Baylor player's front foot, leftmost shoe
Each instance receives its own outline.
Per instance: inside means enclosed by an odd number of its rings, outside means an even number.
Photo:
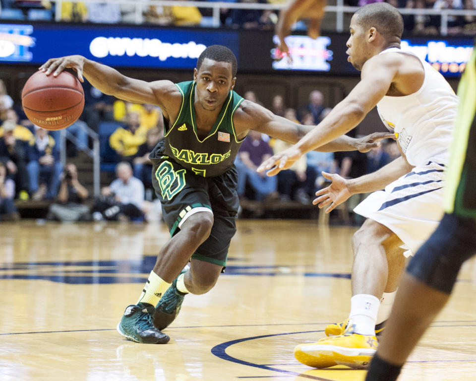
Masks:
[[[152,322],[154,310],[154,306],[149,303],[127,306],[117,326],[119,334],[136,343],[168,343],[170,337],[154,327]]]

